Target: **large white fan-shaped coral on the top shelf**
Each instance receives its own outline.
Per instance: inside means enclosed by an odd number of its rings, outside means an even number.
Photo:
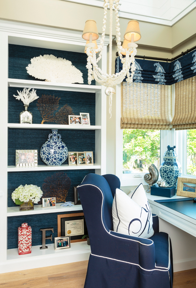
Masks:
[[[54,55],[40,55],[31,59],[27,73],[48,82],[84,83],[82,72],[72,62]]]

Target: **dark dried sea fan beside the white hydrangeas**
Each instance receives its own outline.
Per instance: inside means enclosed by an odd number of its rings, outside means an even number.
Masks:
[[[66,202],[71,179],[64,172],[58,172],[44,179],[42,198],[56,197],[56,202]],[[42,201],[42,200],[41,200]],[[41,203],[41,202],[40,202]]]

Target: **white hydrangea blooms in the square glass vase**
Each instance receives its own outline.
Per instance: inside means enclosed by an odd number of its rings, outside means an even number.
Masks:
[[[21,205],[24,202],[29,202],[30,200],[37,204],[37,202],[42,197],[43,192],[37,185],[20,185],[18,188],[12,192],[12,200],[17,204]]]

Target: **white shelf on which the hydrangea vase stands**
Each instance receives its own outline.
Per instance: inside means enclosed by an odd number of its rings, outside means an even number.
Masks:
[[[7,207],[7,217],[20,216],[20,215],[32,215],[32,214],[45,214],[45,213],[56,213],[56,212],[68,212],[68,211],[79,211],[82,210],[82,205],[74,205],[63,207],[60,206],[62,203],[57,203],[56,207],[42,208],[42,205],[34,205],[34,210],[30,211],[20,211],[20,206],[18,207]]]

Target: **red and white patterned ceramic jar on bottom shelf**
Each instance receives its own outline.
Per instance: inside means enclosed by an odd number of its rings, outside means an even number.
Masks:
[[[31,253],[31,226],[27,223],[22,223],[18,227],[18,254]]]

